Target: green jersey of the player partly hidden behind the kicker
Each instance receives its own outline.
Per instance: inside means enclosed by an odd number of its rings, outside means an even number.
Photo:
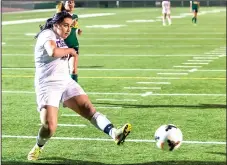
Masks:
[[[69,48],[78,48],[79,42],[76,36],[76,33],[77,33],[76,30],[79,28],[78,16],[76,14],[73,14],[72,17],[73,17],[73,21],[75,21],[75,24],[73,25],[69,36],[65,39],[65,43]]]

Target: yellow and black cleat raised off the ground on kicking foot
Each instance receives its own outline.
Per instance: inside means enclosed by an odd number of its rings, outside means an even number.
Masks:
[[[117,145],[123,144],[125,142],[125,138],[129,135],[132,130],[131,124],[127,123],[123,127],[119,128],[115,132],[115,143]]]

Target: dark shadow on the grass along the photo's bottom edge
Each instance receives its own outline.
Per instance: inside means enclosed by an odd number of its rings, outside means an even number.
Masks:
[[[42,163],[42,160],[52,161],[53,163]],[[81,160],[72,160],[61,157],[50,157],[39,160],[38,162],[13,162],[3,161],[2,165],[109,165],[100,162],[88,162]],[[155,161],[146,163],[130,163],[130,164],[112,164],[112,165],[225,165],[226,162],[212,162],[212,161]]]

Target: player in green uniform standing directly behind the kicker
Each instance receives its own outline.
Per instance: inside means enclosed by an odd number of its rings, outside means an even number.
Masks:
[[[77,34],[81,35],[82,30],[79,29],[79,24],[78,24],[78,16],[76,14],[73,14],[75,7],[75,2],[70,0],[70,1],[61,1],[58,3],[56,6],[57,12],[61,11],[67,11],[73,18],[73,26],[70,35],[65,39],[65,43],[69,48],[74,48],[77,51],[77,54],[79,55],[79,41],[77,39]],[[73,80],[78,82],[78,56],[70,58],[69,61],[69,66],[70,66],[70,75]]]

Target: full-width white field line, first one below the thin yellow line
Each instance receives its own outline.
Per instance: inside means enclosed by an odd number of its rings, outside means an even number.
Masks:
[[[33,91],[6,91],[6,90],[3,90],[2,93],[35,94],[35,92],[33,92]],[[198,94],[196,94],[196,93],[152,93],[152,92],[145,92],[145,93],[87,92],[88,95],[122,95],[122,96],[123,95],[125,95],[125,96],[144,96],[147,93],[150,93],[149,95],[151,95],[151,96],[224,96],[224,97],[226,97],[226,94],[211,94],[211,93],[198,93]],[[110,108],[112,108],[112,107],[110,107]]]

